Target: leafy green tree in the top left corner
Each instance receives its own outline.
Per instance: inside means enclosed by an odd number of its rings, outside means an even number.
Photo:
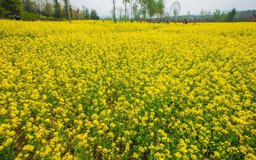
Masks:
[[[22,12],[22,3],[20,0],[1,0],[0,16],[10,18],[12,15],[20,15]]]

